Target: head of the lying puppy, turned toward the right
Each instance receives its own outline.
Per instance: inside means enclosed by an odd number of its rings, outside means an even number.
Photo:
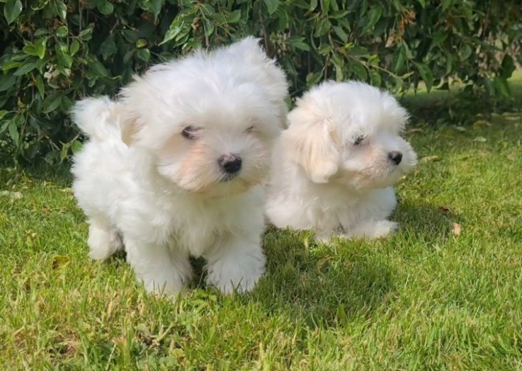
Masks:
[[[408,117],[385,91],[328,81],[297,102],[283,140],[314,183],[385,188],[416,164],[401,137]]]

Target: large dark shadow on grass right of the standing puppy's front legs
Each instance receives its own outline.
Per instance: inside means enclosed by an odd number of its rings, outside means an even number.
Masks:
[[[264,241],[266,278],[254,297],[268,314],[285,308],[312,327],[339,324],[370,316],[393,292],[392,268],[364,241],[315,245],[310,234],[276,229]]]

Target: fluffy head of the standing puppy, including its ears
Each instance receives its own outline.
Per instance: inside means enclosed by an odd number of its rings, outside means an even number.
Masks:
[[[121,93],[122,139],[187,192],[220,197],[264,181],[284,125],[283,72],[256,40],[159,64]]]

